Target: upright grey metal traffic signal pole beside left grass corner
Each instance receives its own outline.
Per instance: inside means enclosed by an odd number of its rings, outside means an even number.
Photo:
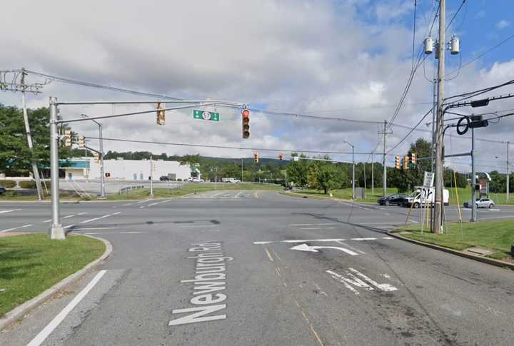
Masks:
[[[52,224],[50,239],[66,239],[59,220],[59,133],[57,133],[57,98],[50,98],[50,176]]]

